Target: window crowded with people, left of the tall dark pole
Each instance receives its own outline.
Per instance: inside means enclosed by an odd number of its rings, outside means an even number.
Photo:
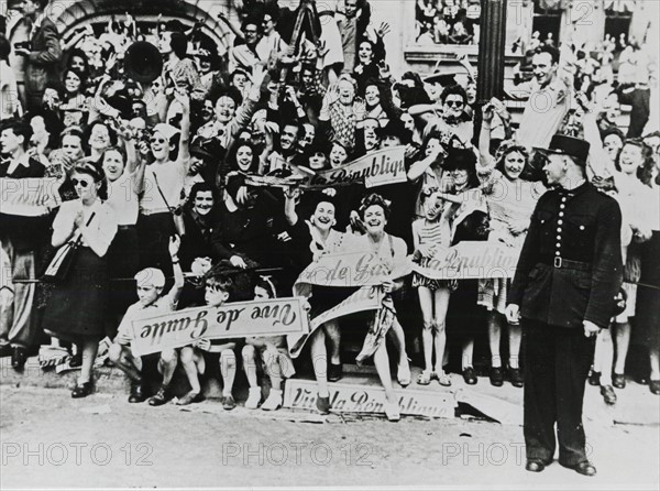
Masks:
[[[479,44],[480,0],[417,0],[416,43]]]

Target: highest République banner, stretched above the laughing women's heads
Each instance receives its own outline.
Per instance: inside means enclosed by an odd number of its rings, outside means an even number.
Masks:
[[[364,183],[366,187],[376,187],[405,183],[407,181],[404,164],[405,153],[405,146],[392,146],[370,152],[339,168],[317,173],[311,177],[309,184],[323,187]]]

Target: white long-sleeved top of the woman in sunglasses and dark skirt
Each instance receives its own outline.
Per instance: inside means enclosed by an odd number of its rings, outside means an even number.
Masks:
[[[91,248],[97,255],[102,258],[108,252],[108,248],[117,233],[117,218],[114,217],[114,210],[100,199],[97,199],[91,206],[82,206],[79,199],[64,201],[53,221],[53,243],[61,243],[69,236],[69,241],[79,237],[80,232],[74,225],[79,211],[82,211],[85,223],[89,221],[91,214],[95,214],[89,225],[87,225],[88,231],[82,238],[81,244]],[[72,231],[74,232],[73,236]]]

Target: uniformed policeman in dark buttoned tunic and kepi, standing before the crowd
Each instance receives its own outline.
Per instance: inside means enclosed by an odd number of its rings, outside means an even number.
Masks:
[[[531,472],[552,461],[557,423],[559,463],[596,473],[585,454],[582,403],[594,341],[609,325],[622,282],[622,214],[616,200],[586,182],[588,150],[587,142],[559,134],[539,150],[553,188],[534,211],[508,296],[508,321],[522,321]]]

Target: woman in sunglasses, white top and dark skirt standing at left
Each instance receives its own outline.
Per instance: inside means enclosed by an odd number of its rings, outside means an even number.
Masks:
[[[61,248],[80,241],[66,279],[58,283],[44,314],[50,335],[82,347],[80,377],[72,396],[86,397],[92,390],[91,369],[108,307],[106,253],[117,233],[117,218],[106,198],[102,172],[91,163],[76,166],[72,182],[78,199],[64,201],[53,222],[52,244]]]

